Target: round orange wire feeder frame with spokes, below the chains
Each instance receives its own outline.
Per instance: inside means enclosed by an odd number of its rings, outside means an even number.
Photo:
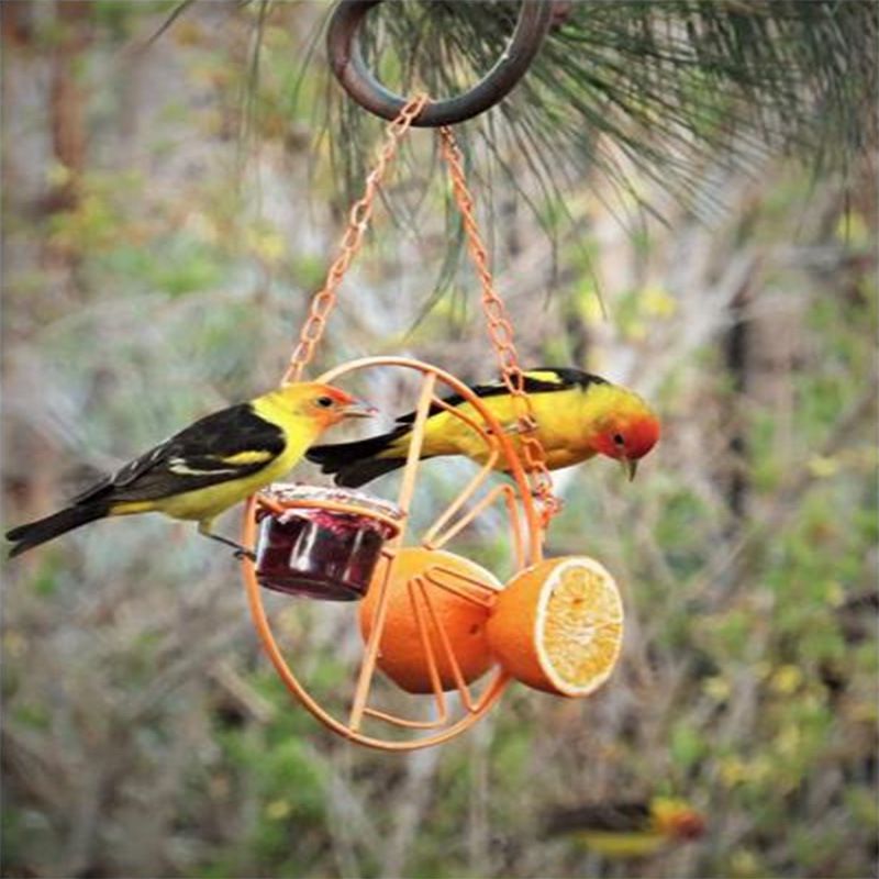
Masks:
[[[292,671],[269,624],[264,603],[264,590],[257,575],[258,561],[254,564],[245,559],[243,570],[247,599],[260,641],[290,692],[318,720],[346,738],[376,748],[409,750],[439,744],[471,726],[494,704],[509,681],[507,675],[498,668],[487,681],[480,682],[478,690],[472,688],[466,680],[467,675],[461,669],[454,645],[443,637],[442,623],[436,613],[437,591],[456,596],[475,608],[488,611],[498,590],[497,581],[488,572],[485,576],[479,574],[474,576],[472,572],[461,572],[458,566],[449,566],[449,556],[453,554],[448,553],[445,547],[487,510],[496,508],[502,512],[512,535],[513,567],[518,571],[541,559],[542,524],[532,498],[527,475],[510,438],[482,401],[464,382],[450,374],[419,360],[400,357],[369,357],[338,366],[322,375],[319,380],[331,381],[352,372],[388,367],[414,370],[421,376],[421,387],[413,436],[397,498],[400,518],[399,521],[394,521],[381,515],[379,520],[389,527],[396,527],[396,533],[380,548],[376,574],[369,585],[369,589],[377,591],[374,611],[376,624],[371,627],[365,642],[364,656],[356,675],[356,686],[346,716],[337,716],[324,708]],[[463,415],[444,403],[437,396],[438,388],[443,386],[465,398],[472,405],[479,420]],[[412,533],[410,526],[410,510],[418,479],[419,456],[424,439],[424,423],[432,405],[447,408],[456,416],[465,419],[468,425],[485,441],[487,458],[479,471],[468,480],[456,497],[433,518],[426,527],[415,534]],[[510,480],[485,490],[492,469],[499,464],[509,469]],[[478,497],[480,490],[482,490],[481,497]],[[310,510],[320,509],[340,516],[363,516],[364,519],[375,516],[375,512],[365,508],[363,502],[346,503],[324,500],[320,497],[313,499],[298,497],[285,500],[282,492],[278,496],[262,494],[252,498],[247,505],[242,536],[243,544],[245,546],[255,545],[257,520],[260,514],[283,516],[291,510],[301,510],[303,507],[308,507]],[[388,710],[372,701],[372,697],[376,694],[374,693],[377,683],[376,670],[383,631],[381,621],[388,610],[389,585],[394,577],[401,552],[411,547],[420,547],[424,550],[420,570],[408,577],[404,589],[408,602],[412,608],[413,620],[415,620],[425,666],[429,670],[433,670],[430,687],[430,694],[433,697],[433,716],[426,720],[423,716],[423,699],[414,698],[416,700],[414,714]],[[305,582],[309,582],[308,578]],[[313,591],[312,594],[315,592]],[[330,598],[337,597],[337,593],[330,596]],[[348,597],[345,596],[345,598]],[[441,680],[437,669],[442,665],[452,668],[454,687],[444,685]],[[454,700],[447,696],[449,689],[455,693]],[[379,700],[381,696],[381,692],[377,694]],[[457,704],[453,705],[453,701]],[[380,731],[388,728],[405,731],[414,734],[415,737],[399,738],[371,732],[376,727]]]

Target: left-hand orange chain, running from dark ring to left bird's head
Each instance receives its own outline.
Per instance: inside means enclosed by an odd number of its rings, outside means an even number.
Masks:
[[[287,371],[283,375],[282,380],[285,382],[298,381],[302,376],[302,370],[314,355],[314,348],[321,341],[321,336],[323,336],[326,319],[330,316],[330,312],[332,312],[333,308],[335,308],[338,286],[342,283],[342,279],[345,277],[348,266],[351,266],[352,260],[363,245],[366,227],[369,224],[369,218],[372,215],[372,204],[378,194],[378,188],[385,176],[388,164],[397,153],[397,147],[409,130],[409,126],[412,124],[412,121],[424,109],[426,103],[427,96],[419,94],[409,101],[400,111],[397,119],[387,126],[387,138],[379,151],[375,167],[369,171],[366,178],[364,194],[354,203],[348,214],[348,225],[345,230],[345,234],[342,236],[340,254],[333,265],[330,266],[330,271],[326,275],[323,287],[312,297],[308,319],[302,326],[302,331],[299,334],[299,342],[293,349]]]

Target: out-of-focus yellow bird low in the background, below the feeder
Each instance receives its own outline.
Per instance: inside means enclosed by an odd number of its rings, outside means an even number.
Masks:
[[[549,835],[569,834],[596,854],[621,859],[655,855],[705,831],[704,819],[689,803],[666,797],[558,809],[545,826]]]

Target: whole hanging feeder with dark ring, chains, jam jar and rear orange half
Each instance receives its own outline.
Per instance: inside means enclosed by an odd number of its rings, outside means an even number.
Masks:
[[[318,380],[336,381],[372,369],[404,370],[410,379],[413,372],[418,376],[411,441],[396,502],[389,504],[360,492],[346,494],[326,488],[272,487],[247,503],[242,543],[256,549],[256,560],[244,558],[242,569],[257,633],[292,696],[338,735],[361,745],[400,752],[436,745],[464,732],[491,709],[510,681],[508,674],[485,653],[481,641],[483,623],[503,587],[493,574],[449,552],[449,546],[469,526],[491,515],[491,527],[497,530],[500,522],[510,535],[512,558],[508,564],[515,575],[541,561],[545,528],[558,510],[531,401],[524,391],[512,325],[493,288],[461,156],[446,126],[450,121],[481,112],[512,88],[546,33],[552,8],[544,2],[523,2],[510,52],[487,78],[488,86],[480,84],[476,96],[469,93],[433,104],[426,96],[410,101],[398,99],[366,75],[353,38],[358,23],[376,2],[345,0],[340,4],[329,33],[330,55],[345,88],[367,109],[392,122],[378,160],[366,178],[364,196],[351,210],[341,254],[330,267],[324,287],[312,299],[285,380],[298,380],[312,357],[335,304],[337,288],[360,247],[379,183],[400,140],[413,125],[444,125],[438,132],[441,153],[480,278],[489,335],[518,413],[512,431],[515,438],[510,435],[510,425],[500,424],[467,385],[437,366],[402,357],[368,357],[337,366]],[[524,60],[521,53],[525,53]],[[512,70],[509,55],[513,56]],[[491,97],[487,103],[486,96]],[[444,401],[444,391],[449,390],[469,407]],[[478,472],[424,524],[413,516],[412,505],[425,424],[437,410],[461,420],[481,437],[485,454]],[[497,469],[504,470],[509,478],[491,481]],[[351,676],[349,697],[340,696],[335,686],[330,699],[326,693],[315,694],[313,687],[303,683],[303,676],[293,672],[279,642],[289,637],[289,631],[283,631],[285,619],[287,630],[301,630],[301,624],[291,626],[289,617],[283,617],[289,605],[277,615],[271,613],[272,623],[269,622],[264,597],[270,590],[335,601],[360,600],[364,648],[358,670]],[[349,607],[336,605],[343,610]],[[464,631],[450,631],[449,608],[466,622]],[[281,632],[280,638],[277,631]],[[414,676],[409,674],[411,669],[401,670],[392,663],[392,654],[403,649],[419,658]],[[298,659],[303,661],[302,657]],[[492,666],[493,671],[482,677]],[[377,675],[377,669],[392,683]],[[478,678],[482,679],[477,683]],[[425,696],[432,699],[425,700]]]

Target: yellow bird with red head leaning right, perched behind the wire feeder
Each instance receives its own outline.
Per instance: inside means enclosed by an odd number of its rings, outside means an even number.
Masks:
[[[549,469],[607,455],[623,464],[630,479],[635,476],[638,459],[659,438],[659,421],[641,397],[579,369],[547,367],[528,370],[524,377]],[[519,446],[518,410],[507,386],[478,385],[472,391]],[[461,397],[447,397],[444,402],[479,421],[472,405]],[[356,488],[405,464],[414,418],[413,412],[402,415],[397,420],[398,426],[381,436],[315,446],[307,457],[320,464],[323,472],[333,474],[336,485]],[[483,463],[488,454],[482,437],[463,419],[432,405],[422,458],[465,455]]]

